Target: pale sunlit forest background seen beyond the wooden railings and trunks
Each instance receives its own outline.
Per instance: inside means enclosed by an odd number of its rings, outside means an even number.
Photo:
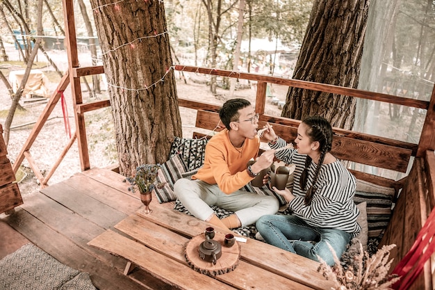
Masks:
[[[395,2],[393,6],[377,6],[379,0],[372,0],[370,3],[368,29],[376,27],[370,26],[370,23],[379,23],[379,18],[383,15],[393,15],[390,19],[384,19],[388,21],[388,35],[391,37],[386,40],[388,43],[384,46],[384,51],[381,51],[383,56],[381,63],[364,61],[365,55],[373,53],[377,47],[376,43],[370,43],[366,38],[359,88],[429,100],[435,79],[434,1],[395,0],[393,2]],[[53,92],[61,75],[67,70],[67,54],[63,43],[62,3],[44,0],[43,35],[35,33],[35,13],[38,10],[35,7],[36,3],[38,2],[8,0],[0,3],[0,71],[8,81],[10,72],[24,70],[28,63],[26,60],[30,53],[30,41],[41,38],[42,49],[38,52],[32,68],[44,72],[48,79],[47,88]],[[222,3],[222,6],[220,11],[217,11],[217,6],[212,6],[210,1],[164,1],[174,63],[234,70],[233,58],[238,53],[236,39],[240,20],[239,2],[219,1],[219,3]],[[245,4],[243,41],[240,43],[238,70],[291,78],[311,13],[312,2],[246,1]],[[101,64],[101,51],[94,33],[93,11],[83,0],[74,1],[74,7],[80,63],[83,66]],[[379,9],[380,7],[382,9],[395,7],[397,11],[391,14]],[[220,33],[216,35],[219,39],[218,57],[213,66],[211,66],[208,45],[209,13],[220,16]],[[368,31],[367,35],[375,32]],[[17,46],[16,42],[20,42],[20,45]],[[364,72],[372,70],[373,66],[379,71],[378,76],[375,79],[365,79]],[[255,83],[231,84],[228,79],[218,79],[217,90],[214,92],[208,88],[208,83],[210,83],[208,75],[180,73],[177,78],[178,95],[183,98],[206,99],[214,104],[222,104],[229,97],[247,97],[253,100],[255,96]],[[0,86],[0,123],[3,124],[10,106],[10,96],[4,79]],[[82,88],[85,92],[83,93],[85,102],[108,98],[104,75],[83,78]],[[268,88],[269,98],[266,106],[268,113],[280,115],[280,110],[286,101],[287,90],[288,88],[280,86]],[[65,99],[69,112],[72,112],[69,91],[65,91]],[[41,100],[35,95],[24,96],[20,105],[25,107],[25,111],[17,111],[11,127],[8,145],[11,161],[15,160],[15,156],[31,131],[32,123],[44,108],[44,99]],[[409,142],[418,140],[425,117],[424,111],[411,111],[407,107],[377,104],[377,102],[370,102],[366,106],[368,106],[367,118],[356,120],[355,123],[358,131]],[[56,108],[55,114],[56,117],[44,127],[40,140],[35,142],[32,150],[35,160],[40,162],[42,171],[51,168],[61,148],[67,143],[65,119],[60,105]],[[181,117],[183,135],[190,137],[190,127],[192,127],[190,112],[181,111]],[[86,116],[86,122],[92,166],[108,166],[116,162],[116,145],[113,139],[110,109],[92,112]],[[74,122],[70,123],[74,127]],[[23,182],[28,184],[32,191],[38,187],[38,184],[26,163],[23,165],[23,178],[27,176]],[[51,182],[65,179],[79,170],[76,150],[70,150]],[[23,184],[20,184],[20,189],[28,191],[24,189]]]

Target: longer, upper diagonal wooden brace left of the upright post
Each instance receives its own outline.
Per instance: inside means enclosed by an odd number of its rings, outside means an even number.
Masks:
[[[40,134],[42,127],[44,127],[45,122],[47,122],[47,119],[51,115],[51,112],[53,112],[56,104],[58,103],[58,100],[60,99],[60,97],[62,97],[63,91],[67,88],[68,84],[69,73],[66,72],[62,79],[60,79],[58,87],[56,88],[56,90],[54,90],[53,95],[51,95],[49,102],[45,106],[44,111],[42,111],[40,117],[38,118],[38,121],[36,121],[35,126],[33,126],[33,129],[28,135],[28,138],[26,140],[26,143],[24,143],[22,150],[17,155],[17,159],[15,159],[15,162],[13,163],[14,173],[17,173],[19,166],[24,160],[24,152],[27,152],[32,147],[33,142],[35,142],[36,137],[38,137],[38,134]]]

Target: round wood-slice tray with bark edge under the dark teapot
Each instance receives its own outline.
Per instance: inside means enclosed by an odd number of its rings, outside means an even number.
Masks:
[[[184,250],[184,256],[190,267],[199,273],[210,276],[222,275],[233,271],[237,267],[240,258],[240,245],[236,241],[231,248],[225,247],[224,238],[224,234],[215,232],[213,239],[222,245],[222,256],[217,259],[215,265],[213,265],[213,262],[204,261],[199,257],[199,245],[205,241],[204,234],[194,236],[188,241]]]

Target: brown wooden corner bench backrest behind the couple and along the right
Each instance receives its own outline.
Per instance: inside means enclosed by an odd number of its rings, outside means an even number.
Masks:
[[[207,105],[200,109],[201,106],[194,103],[183,101],[181,106],[198,109],[195,126],[208,131],[215,129],[219,122],[218,107]],[[261,114],[258,127],[263,127],[265,122],[271,123],[274,131],[287,142],[295,140],[297,127],[300,124],[299,120]],[[206,134],[204,131],[194,132],[193,137],[203,138]],[[390,255],[393,259],[391,271],[410,250],[427,216],[435,206],[434,152],[427,151],[425,156],[415,157],[417,150],[418,145],[413,143],[334,128],[331,153],[341,161],[347,162],[348,168],[357,179],[395,189],[392,218],[379,243],[379,247],[389,244],[397,245]],[[415,159],[409,170],[411,157]],[[373,166],[378,172],[388,170],[389,175],[383,177],[358,169],[363,166]],[[409,175],[405,174],[407,171]],[[401,177],[396,180],[397,175]],[[429,260],[425,264],[424,272],[418,276],[411,289],[429,290],[434,284]]]

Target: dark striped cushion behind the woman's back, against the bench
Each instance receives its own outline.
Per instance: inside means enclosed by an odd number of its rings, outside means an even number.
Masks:
[[[394,188],[356,180],[356,204],[367,202],[368,237],[380,239],[390,222]]]

